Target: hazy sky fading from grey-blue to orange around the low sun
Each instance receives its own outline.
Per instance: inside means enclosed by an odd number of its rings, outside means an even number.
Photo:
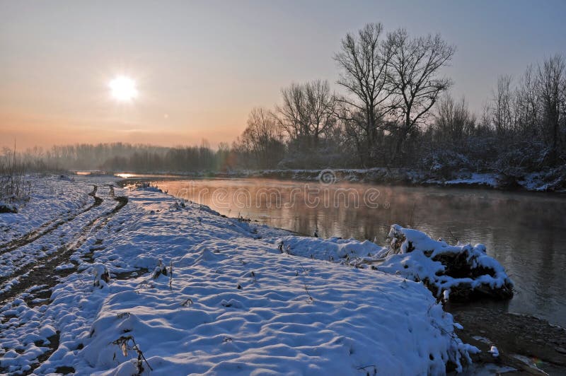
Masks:
[[[236,139],[292,82],[335,86],[340,40],[366,23],[440,33],[444,74],[480,112],[497,76],[566,54],[566,1],[0,0],[0,148]],[[109,83],[128,76],[127,102]]]

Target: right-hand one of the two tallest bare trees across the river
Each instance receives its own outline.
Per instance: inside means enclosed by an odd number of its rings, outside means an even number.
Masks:
[[[400,97],[396,107],[402,119],[395,149],[398,153],[439,95],[451,86],[451,80],[439,76],[439,71],[452,59],[456,47],[448,45],[440,35],[412,38],[404,29],[389,33],[386,45],[391,53],[390,82]]]

